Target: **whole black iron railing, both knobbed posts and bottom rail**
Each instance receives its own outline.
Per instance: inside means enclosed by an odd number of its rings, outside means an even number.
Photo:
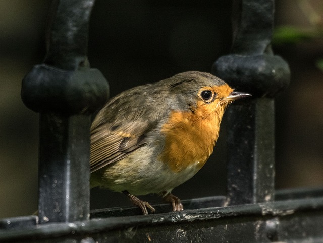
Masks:
[[[45,61],[22,86],[24,103],[40,113],[39,214],[0,220],[0,241],[322,241],[323,190],[274,190],[274,97],[290,74],[271,51],[273,0],[233,1],[232,53],[213,65],[253,94],[228,110],[228,195],[183,201],[181,212],[160,204],[154,215],[134,207],[89,214],[90,116],[108,88],[86,57],[93,4],[53,3]]]

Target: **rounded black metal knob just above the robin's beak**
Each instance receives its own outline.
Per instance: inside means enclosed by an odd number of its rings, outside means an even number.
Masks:
[[[220,57],[212,67],[229,85],[257,97],[274,97],[289,84],[288,64],[276,55],[237,55]]]

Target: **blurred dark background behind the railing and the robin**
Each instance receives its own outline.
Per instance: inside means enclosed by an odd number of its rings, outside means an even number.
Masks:
[[[291,68],[291,84],[276,98],[277,189],[323,185],[323,39],[317,35],[323,30],[322,5],[310,0],[276,3],[275,25],[305,33],[291,41],[278,38],[273,46]],[[24,106],[20,87],[24,75],[44,58],[49,6],[48,0],[0,2],[0,218],[37,209],[38,114]],[[179,72],[209,72],[230,45],[231,1],[97,0],[88,57],[114,96]],[[214,156],[174,189],[181,199],[225,194],[225,131],[230,129],[225,119],[221,129]],[[118,193],[91,191],[91,208],[118,205],[131,204]]]

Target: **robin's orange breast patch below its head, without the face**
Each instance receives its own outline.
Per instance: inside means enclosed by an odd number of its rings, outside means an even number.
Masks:
[[[213,151],[219,135],[216,114],[202,119],[190,112],[172,112],[161,132],[165,134],[165,151],[160,160],[179,172],[195,164],[200,169]]]

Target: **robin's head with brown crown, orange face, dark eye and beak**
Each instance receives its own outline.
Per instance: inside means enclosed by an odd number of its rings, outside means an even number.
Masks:
[[[159,83],[161,86],[168,86],[169,105],[174,110],[190,110],[200,117],[215,114],[220,120],[230,103],[251,96],[234,91],[222,79],[210,73],[198,71],[179,73]]]

